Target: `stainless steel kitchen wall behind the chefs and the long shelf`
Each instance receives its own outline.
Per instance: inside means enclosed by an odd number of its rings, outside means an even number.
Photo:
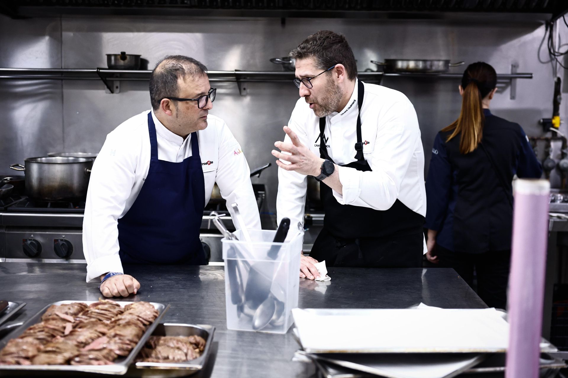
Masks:
[[[383,58],[441,58],[466,63],[483,60],[499,73],[509,73],[511,63],[517,63],[519,72],[532,72],[534,79],[517,79],[515,100],[509,99],[509,84],[500,83],[492,112],[519,122],[528,135],[543,135],[537,122],[552,114],[552,70],[537,56],[545,30],[534,22],[481,25],[303,18],[286,19],[282,24],[279,19],[134,16],[2,21],[7,23],[0,23],[0,46],[7,56],[0,55],[0,66],[80,69],[106,67],[105,54],[126,51],[141,54],[150,69],[166,54],[185,54],[210,70],[279,71],[281,66],[270,63],[270,58],[286,56],[307,35],[331,29],[345,34],[360,71],[375,70],[370,60]],[[566,39],[568,32],[562,36]],[[548,58],[546,46],[542,46],[541,57]],[[465,66],[456,67],[451,72],[461,73],[463,69]],[[565,71],[559,74],[568,80]],[[457,79],[383,79],[383,85],[402,91],[416,108],[425,169],[437,131],[459,114],[458,84]],[[211,113],[227,122],[250,167],[272,162],[270,150],[274,141],[282,139],[282,126],[298,99],[294,85],[245,83],[245,96],[239,94],[236,83],[214,82],[212,86],[218,88],[218,98]],[[108,132],[150,107],[147,82],[121,82],[119,94],[106,93],[98,81],[2,80],[0,87],[0,105],[8,109],[2,141],[13,146],[0,150],[0,167],[52,149],[98,151]],[[34,88],[39,88],[40,94]],[[566,117],[567,107],[565,101],[562,117]],[[566,125],[561,130],[566,131]],[[544,146],[541,155],[543,150]],[[554,158],[559,154],[559,148],[555,148]],[[267,184],[269,208],[274,211],[278,185],[275,166],[260,179],[253,179],[257,181]],[[559,185],[557,175],[553,175],[552,184]]]

